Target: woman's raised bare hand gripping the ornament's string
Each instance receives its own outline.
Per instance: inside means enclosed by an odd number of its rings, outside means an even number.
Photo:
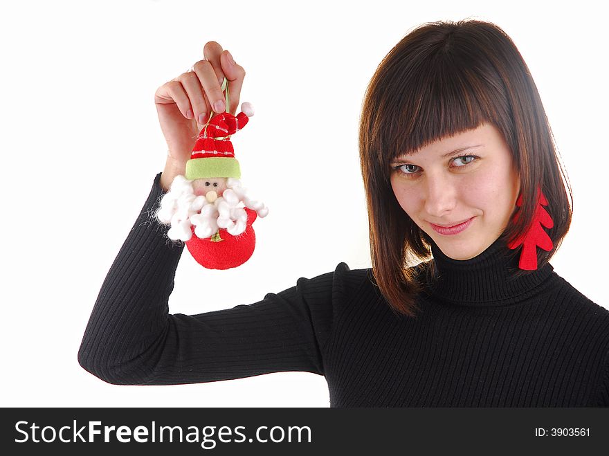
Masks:
[[[161,186],[168,190],[175,176],[184,174],[186,162],[199,131],[206,124],[211,111],[226,111],[221,83],[226,76],[230,107],[235,114],[245,77],[244,69],[237,65],[228,51],[222,51],[217,42],[208,42],[203,48],[204,60],[192,65],[191,71],[165,82],[154,93],[158,121],[167,147],[167,162],[161,174]]]

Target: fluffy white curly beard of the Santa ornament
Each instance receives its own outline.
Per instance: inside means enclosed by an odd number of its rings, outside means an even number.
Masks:
[[[221,197],[209,203],[205,196],[194,194],[192,181],[176,176],[155,213],[158,221],[171,225],[167,237],[188,241],[192,237],[192,226],[200,239],[215,235],[219,228],[226,228],[230,235],[237,236],[247,227],[244,208],[255,210],[258,217],[269,213],[264,203],[246,195],[247,189],[242,188],[239,179],[228,178],[226,187]]]

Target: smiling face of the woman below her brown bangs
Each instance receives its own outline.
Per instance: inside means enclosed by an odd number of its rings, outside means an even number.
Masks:
[[[453,259],[473,258],[493,244],[520,192],[509,148],[490,124],[396,158],[392,168],[401,208]]]

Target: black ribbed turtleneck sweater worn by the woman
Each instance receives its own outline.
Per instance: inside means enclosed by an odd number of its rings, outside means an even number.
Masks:
[[[332,407],[609,406],[609,311],[550,264],[513,280],[499,240],[465,261],[433,246],[435,280],[415,318],[390,310],[370,269],[345,263],[253,304],[170,314],[183,246],[151,217],[160,176],[78,352],[100,379],[169,385],[305,371],[325,376]]]

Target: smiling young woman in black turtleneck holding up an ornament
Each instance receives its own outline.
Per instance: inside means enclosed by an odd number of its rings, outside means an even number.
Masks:
[[[170,156],[102,285],[84,369],[120,385],[314,372],[332,407],[609,405],[609,311],[548,262],[571,206],[543,105],[511,39],[482,21],[420,26],[368,86],[372,268],[169,315],[183,246],[151,215],[223,100],[218,80],[235,113],[245,74],[217,43],[205,53],[156,93]]]

